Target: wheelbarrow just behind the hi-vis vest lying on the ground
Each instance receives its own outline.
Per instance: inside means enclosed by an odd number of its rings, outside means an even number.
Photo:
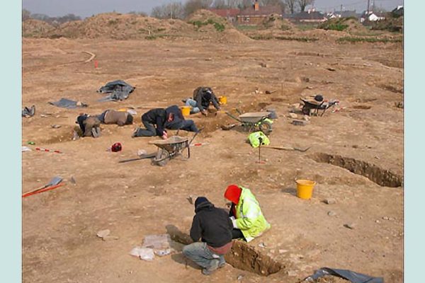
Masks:
[[[236,117],[229,112],[226,114],[234,120],[241,123],[245,132],[254,132],[260,130],[264,134],[270,134],[273,130],[271,125],[273,121],[270,119],[271,112],[246,112],[241,114],[238,110],[239,117]],[[231,129],[236,125],[223,126],[222,129]]]

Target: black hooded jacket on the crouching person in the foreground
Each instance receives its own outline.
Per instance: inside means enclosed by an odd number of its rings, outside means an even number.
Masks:
[[[232,221],[228,212],[214,207],[211,202],[203,202],[195,209],[193,216],[191,238],[193,241],[207,243],[208,246],[219,248],[232,241]]]

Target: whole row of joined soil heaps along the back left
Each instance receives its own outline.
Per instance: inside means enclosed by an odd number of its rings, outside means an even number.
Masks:
[[[24,36],[67,37],[67,38],[108,38],[116,40],[188,37],[195,40],[239,43],[251,40],[239,33],[225,18],[210,11],[200,10],[189,18],[181,20],[160,20],[135,14],[102,13],[84,21],[63,23],[55,28],[42,21],[28,20]],[[28,26],[28,27],[27,27]]]

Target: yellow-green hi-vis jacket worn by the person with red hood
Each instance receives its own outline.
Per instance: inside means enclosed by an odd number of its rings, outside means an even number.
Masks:
[[[242,193],[235,208],[236,220],[234,226],[242,231],[246,241],[251,241],[254,237],[260,236],[263,231],[270,229],[271,225],[264,218],[260,204],[251,190],[246,187],[241,188]]]

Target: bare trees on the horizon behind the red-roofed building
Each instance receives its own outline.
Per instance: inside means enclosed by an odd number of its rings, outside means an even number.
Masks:
[[[305,11],[308,5],[314,4],[314,0],[259,0],[261,6],[279,6],[282,13],[295,13]],[[183,19],[191,13],[206,8],[239,8],[244,9],[253,5],[253,0],[188,0],[185,4],[174,1],[152,8],[151,15],[154,18],[179,18]]]

